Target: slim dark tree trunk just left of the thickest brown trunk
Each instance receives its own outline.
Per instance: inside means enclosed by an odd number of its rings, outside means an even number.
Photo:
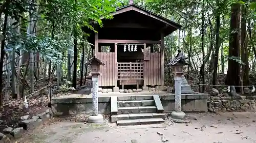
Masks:
[[[217,14],[216,14],[216,48],[215,48],[215,53],[214,53],[214,74],[213,74],[213,79],[212,79],[212,84],[217,85],[217,73],[218,73],[218,65],[219,65],[219,50],[220,50],[220,4],[219,0],[216,1],[217,3]],[[214,87],[216,88],[216,87]]]

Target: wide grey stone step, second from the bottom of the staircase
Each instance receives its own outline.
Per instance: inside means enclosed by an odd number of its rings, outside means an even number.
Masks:
[[[150,119],[150,118],[162,118],[165,119],[164,113],[129,113],[121,115],[112,115],[111,123],[119,120],[134,120],[134,119]]]

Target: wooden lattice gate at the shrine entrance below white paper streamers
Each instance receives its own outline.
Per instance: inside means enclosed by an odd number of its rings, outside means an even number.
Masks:
[[[117,63],[117,80],[142,80],[143,63]]]

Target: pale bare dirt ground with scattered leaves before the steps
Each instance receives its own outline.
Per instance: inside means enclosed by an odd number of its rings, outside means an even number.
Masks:
[[[254,112],[187,115],[191,119],[191,123],[172,125],[164,123],[120,127],[114,124],[88,125],[70,121],[49,122],[24,136],[18,142],[256,142],[256,113]]]

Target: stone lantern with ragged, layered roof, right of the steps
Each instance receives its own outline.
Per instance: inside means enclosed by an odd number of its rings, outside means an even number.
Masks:
[[[179,50],[178,55],[170,61],[168,66],[172,68],[174,80],[175,80],[175,111],[173,111],[170,116],[173,121],[176,122],[186,122],[186,114],[181,110],[181,91],[182,91],[182,82],[185,79],[183,75],[183,67],[188,65],[185,60],[186,56],[183,55],[183,52]]]

